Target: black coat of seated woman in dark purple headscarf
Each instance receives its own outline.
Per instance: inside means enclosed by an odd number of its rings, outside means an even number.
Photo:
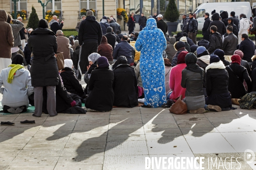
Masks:
[[[96,68],[92,71],[89,80],[89,90],[85,107],[96,111],[110,111],[113,108],[113,71],[108,68]]]

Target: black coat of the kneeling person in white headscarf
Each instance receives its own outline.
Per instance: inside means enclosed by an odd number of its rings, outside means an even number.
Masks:
[[[61,70],[61,78],[64,84],[64,87],[68,92],[76,94],[81,98],[84,98],[84,90],[76,78],[75,71],[71,68],[65,67]]]

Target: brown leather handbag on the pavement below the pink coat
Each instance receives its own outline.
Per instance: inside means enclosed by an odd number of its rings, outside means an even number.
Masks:
[[[172,105],[169,111],[174,114],[186,114],[188,108],[186,103],[182,101],[182,95],[180,95],[180,97],[176,98],[175,100],[177,101]]]

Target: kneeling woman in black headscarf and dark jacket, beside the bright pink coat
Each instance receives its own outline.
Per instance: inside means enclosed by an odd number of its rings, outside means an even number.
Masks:
[[[193,53],[186,54],[185,62],[187,66],[181,78],[181,87],[186,88],[184,102],[189,113],[204,113],[204,69],[196,64],[197,57]]]

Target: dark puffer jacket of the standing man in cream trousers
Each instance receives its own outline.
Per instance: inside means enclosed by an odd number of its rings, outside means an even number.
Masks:
[[[225,55],[231,56],[236,51],[236,45],[238,44],[238,38],[233,34],[228,34],[227,37],[224,38],[222,50]]]

